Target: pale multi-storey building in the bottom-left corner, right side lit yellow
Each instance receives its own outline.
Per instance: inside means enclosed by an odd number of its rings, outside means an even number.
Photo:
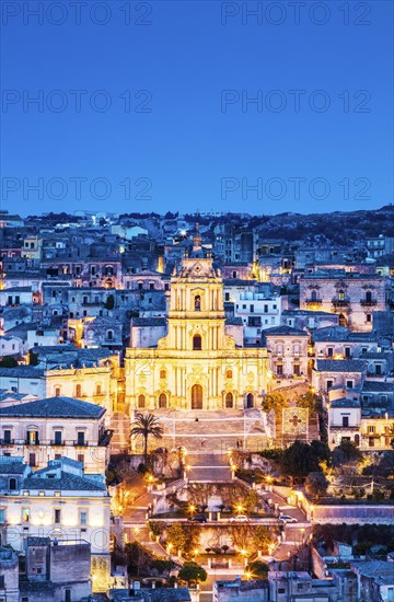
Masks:
[[[85,475],[82,464],[68,458],[32,472],[22,458],[0,456],[0,521],[2,545],[19,553],[27,537],[89,542],[92,589],[106,591],[109,496],[104,475]]]

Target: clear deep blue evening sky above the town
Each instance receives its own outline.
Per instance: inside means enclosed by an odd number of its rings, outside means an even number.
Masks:
[[[393,3],[293,4],[4,0],[2,208],[392,202]]]

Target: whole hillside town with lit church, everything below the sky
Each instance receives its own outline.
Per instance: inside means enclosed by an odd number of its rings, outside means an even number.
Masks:
[[[394,601],[394,207],[0,211],[0,602]]]

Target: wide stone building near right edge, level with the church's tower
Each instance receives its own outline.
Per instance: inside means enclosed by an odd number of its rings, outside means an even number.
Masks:
[[[300,278],[300,309],[337,313],[357,332],[372,331],[372,312],[386,309],[386,280],[376,275],[325,270]]]

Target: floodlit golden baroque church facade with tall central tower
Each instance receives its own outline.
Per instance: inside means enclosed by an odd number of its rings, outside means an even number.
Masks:
[[[220,270],[205,256],[197,234],[192,253],[172,274],[166,336],[155,347],[126,351],[130,415],[260,407],[269,382],[267,350],[236,345],[231,328]]]

